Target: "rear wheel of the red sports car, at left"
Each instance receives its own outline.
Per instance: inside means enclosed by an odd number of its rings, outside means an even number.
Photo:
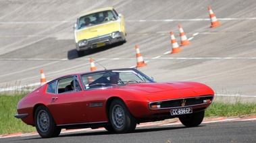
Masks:
[[[57,127],[53,116],[47,107],[41,105],[34,113],[34,124],[42,138],[53,138],[59,136],[61,128]]]

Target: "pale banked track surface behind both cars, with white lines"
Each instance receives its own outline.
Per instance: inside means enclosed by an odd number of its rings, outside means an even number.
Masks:
[[[155,81],[197,81],[216,95],[255,101],[255,1],[16,1],[1,0],[0,90],[40,85],[90,70],[92,57],[106,68],[136,66],[135,44],[147,66],[139,68]],[[125,44],[107,46],[78,58],[73,26],[79,13],[113,6],[126,21]],[[210,28],[208,6],[221,26]],[[170,32],[178,44],[181,24],[191,44],[172,51]],[[97,70],[104,69],[95,63]],[[237,99],[237,98],[236,98]]]

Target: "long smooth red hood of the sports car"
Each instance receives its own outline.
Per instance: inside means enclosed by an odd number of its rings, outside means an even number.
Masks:
[[[136,95],[145,95],[150,101],[214,95],[210,87],[195,82],[141,83],[126,85],[123,88]]]

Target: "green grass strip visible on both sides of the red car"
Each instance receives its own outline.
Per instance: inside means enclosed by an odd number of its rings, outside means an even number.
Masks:
[[[28,92],[18,91],[14,94],[0,95],[0,135],[12,134],[17,132],[27,133],[36,132],[36,128],[28,126],[17,119],[14,115],[17,113],[17,104]],[[255,103],[241,103],[239,100],[229,103],[213,101],[210,107],[205,111],[205,117],[242,117],[256,115]]]

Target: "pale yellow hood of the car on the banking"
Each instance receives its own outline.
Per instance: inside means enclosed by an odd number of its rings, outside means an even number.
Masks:
[[[119,21],[111,21],[108,23],[101,23],[96,26],[89,26],[87,28],[83,28],[81,30],[76,30],[76,41],[80,41],[83,39],[91,39],[98,36],[103,36],[106,34],[111,34],[111,32],[120,31],[120,22]]]

